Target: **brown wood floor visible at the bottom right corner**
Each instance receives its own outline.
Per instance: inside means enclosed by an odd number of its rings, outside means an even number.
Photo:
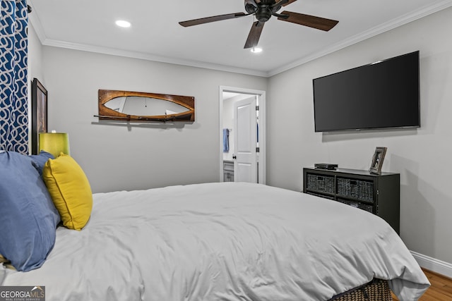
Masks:
[[[419,301],[452,301],[452,278],[422,269],[432,284]],[[398,300],[393,295],[393,300]]]

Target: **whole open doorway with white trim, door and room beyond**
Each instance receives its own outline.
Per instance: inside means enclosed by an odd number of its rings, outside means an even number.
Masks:
[[[220,87],[220,181],[266,183],[265,91]]]

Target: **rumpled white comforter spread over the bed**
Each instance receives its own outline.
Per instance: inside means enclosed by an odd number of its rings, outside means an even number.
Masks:
[[[45,285],[46,301],[324,301],[374,277],[405,301],[429,286],[379,217],[248,183],[95,194],[40,269],[0,268],[0,285]]]

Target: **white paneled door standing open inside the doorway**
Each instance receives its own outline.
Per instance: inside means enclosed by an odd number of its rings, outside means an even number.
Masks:
[[[256,97],[234,102],[234,182],[257,183]]]

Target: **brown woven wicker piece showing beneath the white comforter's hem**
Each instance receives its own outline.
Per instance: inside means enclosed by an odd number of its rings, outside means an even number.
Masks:
[[[334,296],[328,301],[392,301],[388,281],[374,279],[373,281],[353,288],[345,293]]]

